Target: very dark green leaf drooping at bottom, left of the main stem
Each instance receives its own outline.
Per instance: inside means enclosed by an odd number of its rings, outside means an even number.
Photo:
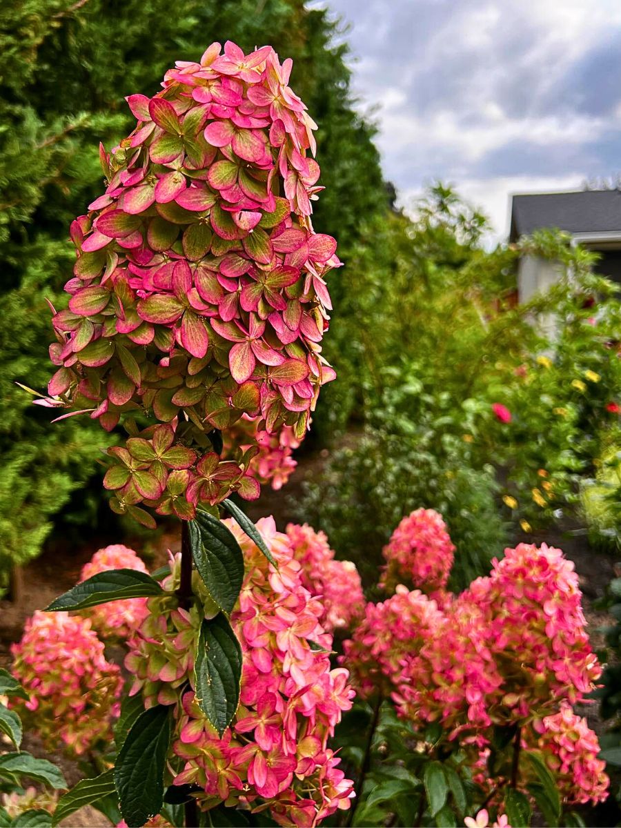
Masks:
[[[161,810],[171,707],[156,705],[138,716],[118,752],[114,784],[123,819],[140,828]]]

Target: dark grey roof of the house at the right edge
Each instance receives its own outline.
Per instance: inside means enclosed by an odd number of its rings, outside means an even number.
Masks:
[[[513,195],[509,241],[542,228],[569,233],[616,232],[621,237],[621,191]]]

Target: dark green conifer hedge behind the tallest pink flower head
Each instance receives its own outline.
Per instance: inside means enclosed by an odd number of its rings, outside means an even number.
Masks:
[[[373,129],[349,99],[345,46],[330,43],[327,13],[302,0],[8,0],[0,8],[0,567],[35,556],[56,513],[89,477],[113,436],[86,418],[50,426],[14,384],[43,389],[51,375],[48,298],[66,305],[70,221],[103,190],[98,144],[127,134],[123,98],[154,94],[174,60],[196,60],[211,41],[244,49],[269,42],[294,59],[292,85],[320,124],[327,190],[316,229],[345,257],[359,217],[388,199]],[[339,294],[339,273],[333,279]],[[98,489],[95,489],[98,491]],[[103,494],[100,495],[103,497]],[[74,522],[79,524],[75,515]],[[93,513],[83,512],[83,522]]]

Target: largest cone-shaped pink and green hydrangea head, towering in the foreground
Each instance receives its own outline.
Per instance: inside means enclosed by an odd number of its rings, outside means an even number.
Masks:
[[[69,308],[55,313],[48,405],[106,429],[149,417],[110,450],[113,508],[190,518],[237,490],[253,451],[221,461],[220,431],[245,413],[303,436],[322,383],[335,239],[315,233],[315,123],[288,86],[291,60],[228,42],[180,62],[108,155],[104,195],[76,219]],[[310,153],[310,154],[309,154]],[[161,425],[165,424],[165,425]]]

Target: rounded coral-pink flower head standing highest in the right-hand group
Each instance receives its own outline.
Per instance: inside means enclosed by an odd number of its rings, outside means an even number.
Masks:
[[[413,585],[430,594],[445,587],[455,546],[442,516],[434,509],[416,509],[399,523],[383,548],[386,566],[380,586]]]

